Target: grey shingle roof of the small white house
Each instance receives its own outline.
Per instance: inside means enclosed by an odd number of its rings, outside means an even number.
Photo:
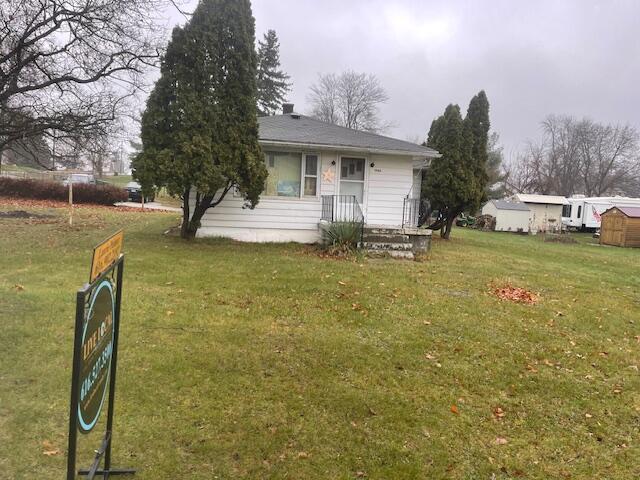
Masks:
[[[348,147],[371,152],[392,152],[401,155],[438,157],[432,148],[405,142],[375,133],[361,132],[321,122],[298,114],[259,117],[260,141],[287,144]]]

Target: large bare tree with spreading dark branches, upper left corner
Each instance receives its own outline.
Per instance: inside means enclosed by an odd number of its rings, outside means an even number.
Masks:
[[[0,3],[0,151],[21,138],[92,135],[126,115],[159,61],[162,0]],[[50,165],[43,165],[50,168]]]

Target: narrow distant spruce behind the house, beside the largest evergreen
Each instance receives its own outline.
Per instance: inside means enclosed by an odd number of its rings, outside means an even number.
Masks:
[[[291,90],[289,75],[280,70],[280,43],[275,30],[258,41],[258,111],[275,115]]]

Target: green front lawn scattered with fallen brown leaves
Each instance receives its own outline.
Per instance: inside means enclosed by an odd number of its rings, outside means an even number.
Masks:
[[[74,295],[120,227],[114,454],[137,479],[640,476],[639,250],[455,229],[423,262],[345,261],[76,212],[0,219],[0,478],[63,477]]]

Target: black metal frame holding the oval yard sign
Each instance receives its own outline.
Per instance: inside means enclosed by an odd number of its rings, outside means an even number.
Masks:
[[[122,302],[122,274],[124,270],[124,254],[120,254],[117,260],[107,270],[101,273],[90,284],[85,284],[76,295],[76,325],[73,345],[73,373],[71,377],[71,402],[69,407],[69,448],[67,458],[67,480],[76,478],[76,447],[78,441],[78,406],[80,395],[80,370],[82,362],[82,337],[85,324],[85,312],[87,299],[104,279],[112,278],[115,271],[116,297],[113,319],[113,349],[111,353],[111,369],[109,372],[109,400],[107,412],[107,431],[102,439],[100,448],[96,450],[96,456],[88,469],[81,469],[78,475],[86,476],[92,480],[96,475],[107,479],[110,475],[132,475],[134,469],[116,469],[111,467],[111,444],[113,440],[113,412],[116,394],[116,367],[118,360],[118,336],[120,333],[120,305]],[[111,277],[109,277],[111,276]],[[100,468],[101,459],[104,456],[104,467]]]

